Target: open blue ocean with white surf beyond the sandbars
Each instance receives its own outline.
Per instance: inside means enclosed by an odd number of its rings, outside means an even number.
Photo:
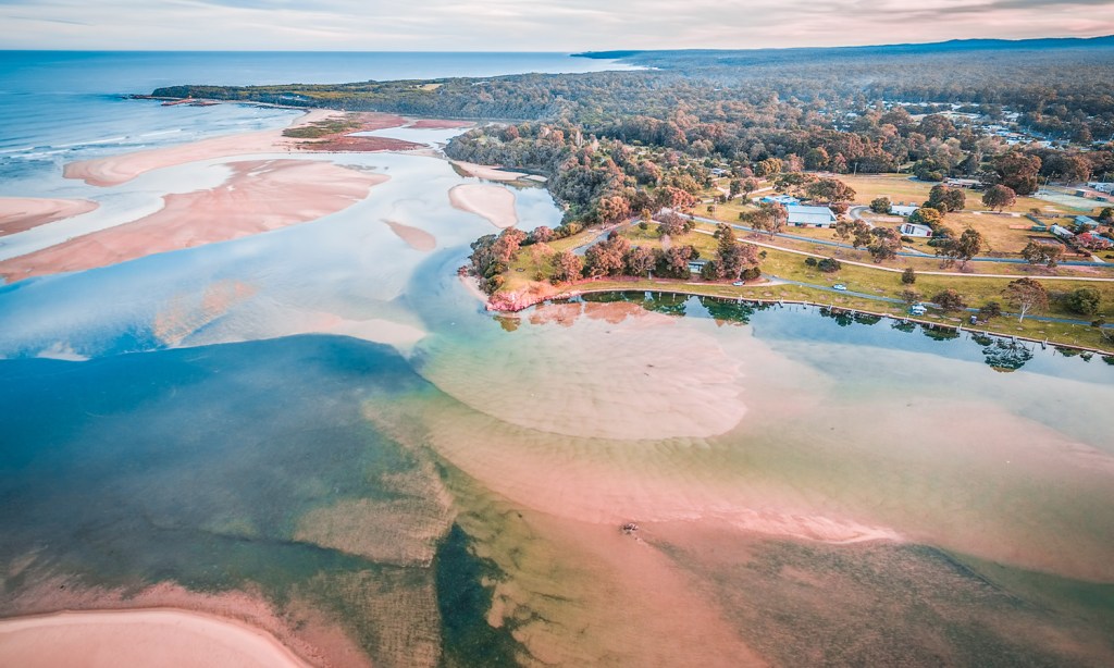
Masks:
[[[0,51],[0,196],[47,195],[61,166],[283,126],[295,111],[131,100],[176,84],[338,84],[626,69],[567,53]]]

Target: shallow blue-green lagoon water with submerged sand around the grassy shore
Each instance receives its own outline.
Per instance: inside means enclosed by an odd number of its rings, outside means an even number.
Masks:
[[[252,159],[390,178],[0,287],[0,616],[183,608],[333,665],[1114,659],[1101,356],[644,292],[491,314],[457,268],[496,229],[448,197],[482,179],[436,153]],[[48,160],[6,194],[101,207],[0,240],[125,223],[228,161],[98,188]],[[559,222],[511,193],[520,227]]]

